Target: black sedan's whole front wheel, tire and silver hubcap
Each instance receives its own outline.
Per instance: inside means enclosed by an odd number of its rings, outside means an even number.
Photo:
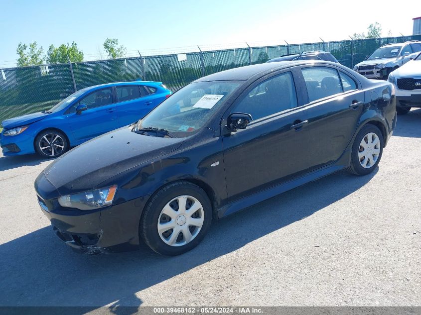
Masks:
[[[158,254],[183,254],[206,235],[212,213],[209,198],[199,186],[186,181],[169,184],[146,205],[140,219],[140,238]]]

